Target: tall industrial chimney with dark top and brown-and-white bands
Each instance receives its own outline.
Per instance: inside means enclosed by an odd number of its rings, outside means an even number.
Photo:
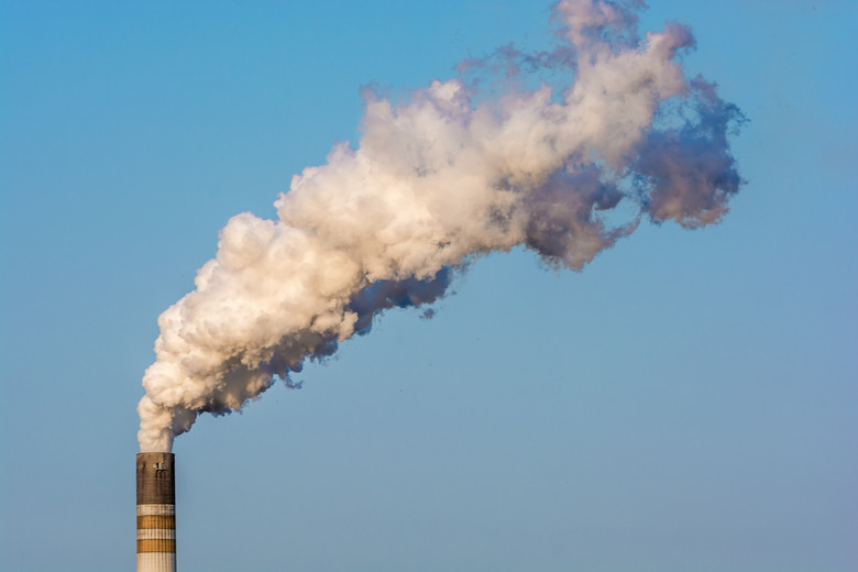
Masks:
[[[138,454],[138,572],[176,571],[173,453]]]

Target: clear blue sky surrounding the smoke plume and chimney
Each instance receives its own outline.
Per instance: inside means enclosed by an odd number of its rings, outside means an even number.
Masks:
[[[155,320],[362,85],[549,41],[532,0],[361,4],[0,1],[0,570],[133,570]],[[730,215],[480,260],[201,418],[179,570],[858,571],[858,4],[650,4],[750,119]]]

